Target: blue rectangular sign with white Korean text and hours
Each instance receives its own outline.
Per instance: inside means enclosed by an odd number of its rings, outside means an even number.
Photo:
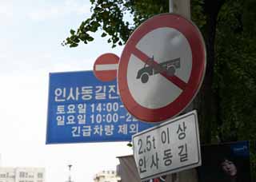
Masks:
[[[46,144],[130,141],[154,125],[126,111],[116,80],[99,81],[92,71],[50,73]]]

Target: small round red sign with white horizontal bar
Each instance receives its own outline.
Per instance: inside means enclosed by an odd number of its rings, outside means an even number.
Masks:
[[[94,75],[100,81],[113,81],[117,77],[119,57],[114,53],[104,53],[94,62]]]

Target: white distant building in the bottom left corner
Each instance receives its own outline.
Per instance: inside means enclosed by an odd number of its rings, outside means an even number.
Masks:
[[[45,169],[0,168],[0,182],[45,182]]]

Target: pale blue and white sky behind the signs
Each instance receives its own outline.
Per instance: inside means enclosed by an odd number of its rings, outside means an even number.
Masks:
[[[45,167],[46,182],[55,182],[66,181],[73,164],[73,180],[90,182],[132,152],[121,142],[45,144],[49,73],[91,70],[102,53],[122,53],[99,36],[74,49],[61,45],[89,16],[89,0],[0,1],[2,167]]]

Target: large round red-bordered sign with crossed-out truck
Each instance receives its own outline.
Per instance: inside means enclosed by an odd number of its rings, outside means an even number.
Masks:
[[[122,103],[141,121],[165,121],[194,99],[205,69],[206,49],[197,26],[178,14],[159,14],[142,23],[122,51]]]

